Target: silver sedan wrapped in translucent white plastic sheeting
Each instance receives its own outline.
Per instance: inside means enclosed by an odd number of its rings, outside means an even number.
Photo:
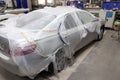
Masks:
[[[43,70],[63,70],[76,51],[104,32],[99,18],[73,7],[45,7],[0,24],[0,66],[32,79]]]

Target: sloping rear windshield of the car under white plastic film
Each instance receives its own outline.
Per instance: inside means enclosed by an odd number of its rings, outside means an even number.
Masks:
[[[30,12],[17,19],[16,27],[25,29],[42,29],[55,19],[55,15],[43,12]]]

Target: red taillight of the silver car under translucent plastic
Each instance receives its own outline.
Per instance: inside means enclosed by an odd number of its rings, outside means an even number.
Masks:
[[[8,53],[14,56],[23,56],[23,55],[27,55],[27,54],[34,52],[36,47],[37,47],[36,44],[25,46],[24,48],[16,47],[13,50],[9,50]]]

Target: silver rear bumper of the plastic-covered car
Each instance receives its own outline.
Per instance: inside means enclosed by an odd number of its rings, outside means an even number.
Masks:
[[[33,56],[33,54],[29,55],[29,56]],[[7,71],[9,71],[13,74],[16,74],[18,76],[22,76],[22,77],[24,77],[24,76],[31,77],[31,76],[37,75],[41,71],[45,70],[51,62],[51,60],[49,58],[39,59],[39,63],[38,63],[38,60],[36,63],[34,62],[34,61],[36,61],[36,60],[34,60],[35,57],[32,59],[33,59],[32,61],[29,60],[28,63],[30,63],[30,64],[28,64],[27,67],[24,67],[25,66],[24,64],[19,64],[19,66],[18,66],[16,63],[14,63],[12,58],[9,58],[9,57],[3,55],[0,52],[0,66],[2,66]],[[34,62],[34,63],[32,63],[32,62]],[[32,70],[31,70],[31,68],[29,69],[29,67],[32,67]]]

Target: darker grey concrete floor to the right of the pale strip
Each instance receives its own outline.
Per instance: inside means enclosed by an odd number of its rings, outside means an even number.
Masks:
[[[68,80],[120,80],[120,42],[116,38],[116,33],[108,31]]]

